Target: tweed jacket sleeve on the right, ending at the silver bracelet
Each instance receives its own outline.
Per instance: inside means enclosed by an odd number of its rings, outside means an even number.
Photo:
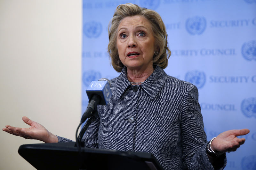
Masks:
[[[204,132],[203,116],[198,103],[198,90],[195,85],[190,83],[188,85],[183,102],[181,123],[183,164],[189,170],[222,170],[227,163],[226,154],[216,158],[214,165],[211,164],[206,153],[209,142]]]

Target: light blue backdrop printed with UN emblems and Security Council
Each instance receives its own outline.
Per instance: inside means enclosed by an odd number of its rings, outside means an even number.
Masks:
[[[89,83],[119,75],[107,54],[108,23],[127,2],[161,15],[172,51],[165,72],[197,86],[207,139],[250,129],[225,169],[256,170],[256,0],[84,0],[83,111]]]

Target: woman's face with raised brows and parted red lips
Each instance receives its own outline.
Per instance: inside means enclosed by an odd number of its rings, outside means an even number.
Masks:
[[[127,69],[153,68],[154,36],[145,17],[125,17],[117,28],[116,45],[119,58]]]

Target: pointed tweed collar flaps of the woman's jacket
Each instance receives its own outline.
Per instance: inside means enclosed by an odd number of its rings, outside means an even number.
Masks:
[[[141,83],[141,88],[148,94],[151,100],[154,100],[158,92],[163,87],[168,75],[162,68],[156,66],[153,73]],[[124,67],[121,74],[116,79],[116,96],[118,99],[122,97],[127,88],[131,87],[132,84],[127,79],[127,69]]]

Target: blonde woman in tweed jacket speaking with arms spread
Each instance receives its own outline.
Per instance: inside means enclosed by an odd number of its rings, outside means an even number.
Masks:
[[[150,152],[164,169],[223,169],[225,152],[236,151],[249,129],[229,130],[207,142],[195,85],[164,72],[171,55],[158,13],[134,4],[116,9],[109,27],[108,53],[120,76],[111,80],[112,97],[98,106],[86,147]],[[71,140],[23,117],[30,128],[7,125],[13,135],[44,142]]]

